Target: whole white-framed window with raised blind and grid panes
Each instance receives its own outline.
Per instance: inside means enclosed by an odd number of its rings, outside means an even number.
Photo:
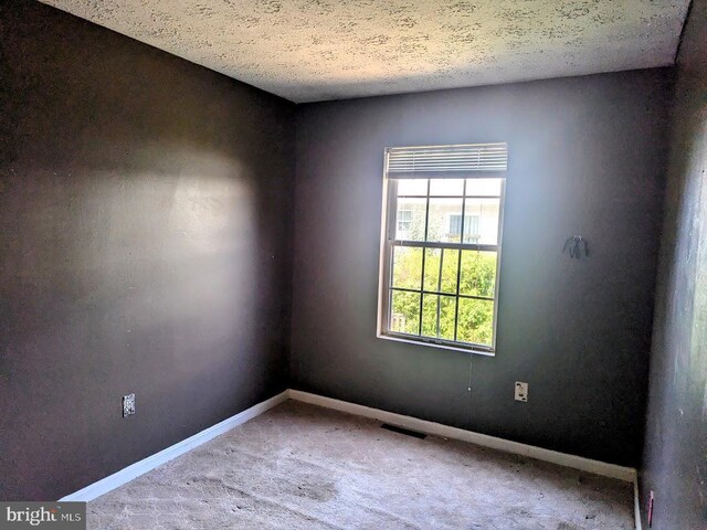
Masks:
[[[389,148],[379,336],[492,354],[506,144]]]

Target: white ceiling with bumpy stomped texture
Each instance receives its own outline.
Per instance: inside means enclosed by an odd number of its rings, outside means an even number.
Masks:
[[[688,0],[44,0],[294,102],[673,63]]]

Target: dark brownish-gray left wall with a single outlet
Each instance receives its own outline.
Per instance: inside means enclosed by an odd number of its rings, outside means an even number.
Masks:
[[[36,2],[0,54],[0,499],[55,499],[286,388],[294,105]]]

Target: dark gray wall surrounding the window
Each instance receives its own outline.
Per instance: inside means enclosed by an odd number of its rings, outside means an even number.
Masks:
[[[293,385],[636,465],[669,82],[654,70],[298,106]],[[509,145],[497,356],[376,338],[383,148],[487,141]],[[561,254],[572,234],[589,259]]]

